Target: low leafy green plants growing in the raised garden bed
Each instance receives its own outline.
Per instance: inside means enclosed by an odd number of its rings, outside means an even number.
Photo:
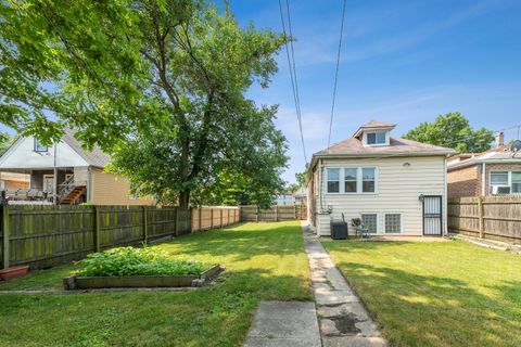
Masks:
[[[89,254],[78,261],[81,277],[182,275],[201,274],[209,265],[171,259],[168,253],[154,248],[118,247]]]

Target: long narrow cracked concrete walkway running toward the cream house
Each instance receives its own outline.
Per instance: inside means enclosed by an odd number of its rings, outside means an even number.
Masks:
[[[322,346],[387,346],[318,237],[303,229]]]

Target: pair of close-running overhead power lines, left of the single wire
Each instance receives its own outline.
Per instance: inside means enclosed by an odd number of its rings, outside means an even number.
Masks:
[[[306,153],[306,145],[304,142],[304,133],[302,130],[302,113],[301,113],[301,98],[298,93],[298,82],[296,79],[296,64],[295,64],[295,51],[293,49],[293,30],[291,28],[291,14],[290,14],[290,2],[289,0],[285,1],[287,10],[288,10],[288,29],[290,31],[290,46],[291,46],[291,56],[290,56],[290,49],[288,48],[288,40],[285,40],[285,55],[288,57],[288,66],[290,67],[290,77],[291,77],[291,89],[293,92],[293,101],[295,102],[295,110],[296,110],[296,119],[298,121],[298,130],[301,133],[301,142],[302,142],[302,151],[304,154],[304,163],[307,165],[307,153]],[[284,22],[284,14],[282,10],[282,1],[279,0],[279,10],[280,10],[280,21],[282,23],[282,33],[284,34],[284,39],[288,38],[285,33],[285,22]]]

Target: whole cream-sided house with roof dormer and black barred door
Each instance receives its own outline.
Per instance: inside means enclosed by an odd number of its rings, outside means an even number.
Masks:
[[[351,139],[313,155],[308,219],[330,235],[331,219],[360,218],[369,233],[446,232],[446,160],[454,150],[390,136],[395,125],[370,121]]]

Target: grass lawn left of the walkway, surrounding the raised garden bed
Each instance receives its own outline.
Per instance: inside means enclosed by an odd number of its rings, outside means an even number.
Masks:
[[[309,300],[300,222],[247,223],[156,245],[226,272],[193,292],[0,295],[0,346],[240,346],[260,300]],[[0,291],[60,287],[73,267]]]

